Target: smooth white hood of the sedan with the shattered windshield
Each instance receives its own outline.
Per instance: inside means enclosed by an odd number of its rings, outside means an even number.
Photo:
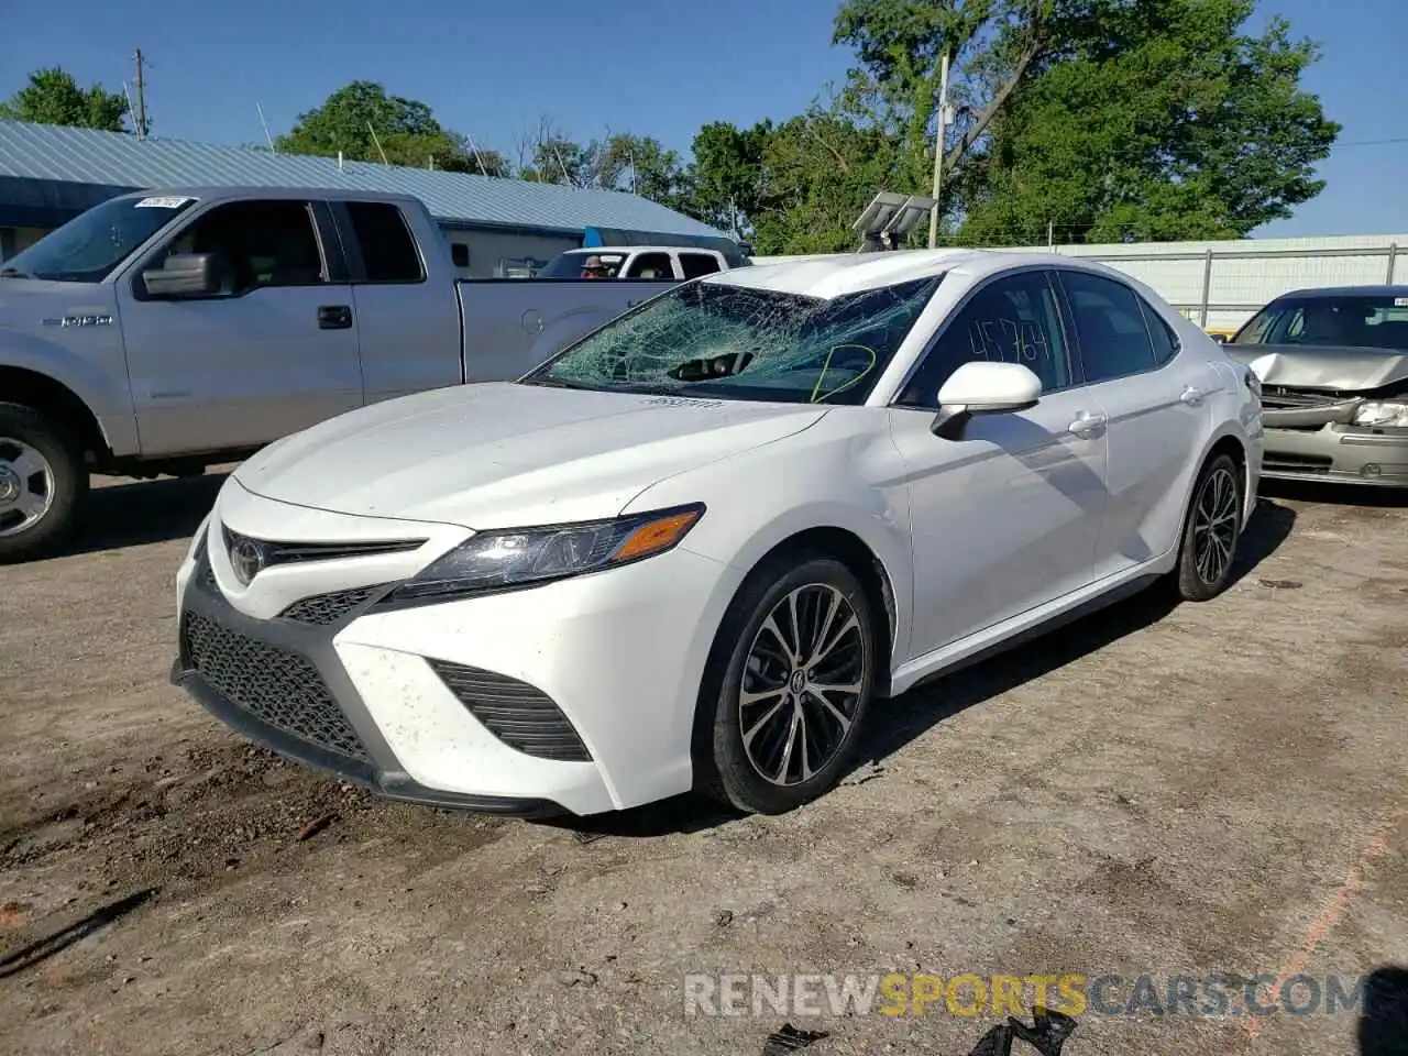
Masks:
[[[483,531],[615,517],[665,477],[805,429],[808,404],[686,400],[505,382],[373,404],[245,462],[297,505]]]

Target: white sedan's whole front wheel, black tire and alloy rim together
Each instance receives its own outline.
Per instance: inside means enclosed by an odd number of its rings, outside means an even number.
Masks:
[[[719,627],[700,694],[708,794],[783,814],[835,787],[869,711],[874,608],[842,562],[801,556],[750,576]]]

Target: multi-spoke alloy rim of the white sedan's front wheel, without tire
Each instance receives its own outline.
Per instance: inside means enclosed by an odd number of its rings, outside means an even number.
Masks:
[[[763,780],[801,784],[836,758],[865,691],[867,649],[855,607],[834,586],[797,587],[772,608],[738,693],[743,752]]]

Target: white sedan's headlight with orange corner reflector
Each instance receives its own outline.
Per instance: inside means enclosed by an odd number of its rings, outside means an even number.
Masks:
[[[628,565],[674,548],[704,505],[610,521],[486,532],[466,539],[386,596],[382,604],[463,597]]]

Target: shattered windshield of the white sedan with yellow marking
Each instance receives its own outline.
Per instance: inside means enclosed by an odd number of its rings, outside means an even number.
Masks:
[[[942,276],[834,298],[687,283],[608,322],[527,384],[863,403]]]

